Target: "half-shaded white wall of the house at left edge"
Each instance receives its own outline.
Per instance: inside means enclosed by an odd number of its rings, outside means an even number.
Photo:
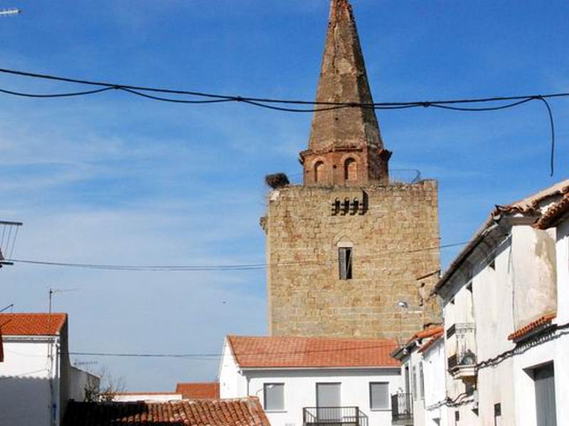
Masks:
[[[49,426],[50,376],[48,346],[52,338],[22,339],[4,336],[4,362],[0,363],[0,413],[2,424]],[[48,343],[51,342],[51,343]],[[57,353],[56,351],[54,353]],[[53,401],[59,401],[58,368],[53,368]],[[55,413],[55,424],[59,410]]]

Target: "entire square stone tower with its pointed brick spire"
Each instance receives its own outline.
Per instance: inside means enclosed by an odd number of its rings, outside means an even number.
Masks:
[[[317,101],[373,102],[348,0],[331,0]],[[270,334],[397,338],[439,321],[437,183],[393,182],[390,156],[373,108],[314,113],[304,184],[273,185],[261,219]]]

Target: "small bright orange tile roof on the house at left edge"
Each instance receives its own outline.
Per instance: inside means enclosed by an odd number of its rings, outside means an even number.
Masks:
[[[55,336],[67,321],[67,314],[0,314],[3,336]]]

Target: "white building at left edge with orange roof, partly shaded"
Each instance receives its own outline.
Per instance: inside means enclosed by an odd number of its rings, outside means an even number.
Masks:
[[[70,399],[83,400],[87,381],[68,356],[66,314],[0,314],[2,425],[57,426]]]

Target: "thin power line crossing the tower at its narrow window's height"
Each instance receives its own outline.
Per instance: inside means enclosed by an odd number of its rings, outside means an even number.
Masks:
[[[403,255],[410,253],[420,253],[422,251],[433,251],[439,249],[449,249],[451,247],[464,246],[469,241],[461,241],[459,243],[444,244],[441,246],[432,246],[424,249],[411,249],[405,251],[383,251],[378,255],[358,256],[357,259],[376,258],[378,256],[385,257],[388,255]],[[28,265],[38,266],[59,266],[66,268],[87,268],[97,269],[103,271],[184,271],[184,272],[198,272],[198,271],[257,271],[265,269],[269,266],[299,266],[299,265],[319,265],[323,263],[332,263],[335,260],[328,261],[295,261],[295,262],[280,262],[280,263],[242,263],[233,265],[111,265],[104,263],[72,263],[72,262],[55,262],[55,261],[40,261],[31,259],[9,259],[14,263],[23,263]]]

